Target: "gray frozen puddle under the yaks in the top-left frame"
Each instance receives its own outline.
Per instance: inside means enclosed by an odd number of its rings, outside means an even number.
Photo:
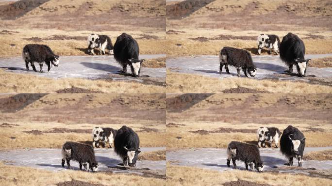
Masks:
[[[154,55],[140,55],[140,59],[152,59],[165,57],[165,54]],[[32,74],[48,78],[103,78],[109,74],[117,74],[122,67],[119,65],[113,56],[60,56],[60,63],[58,67],[52,67],[48,73],[40,73],[38,63],[34,64],[37,72],[34,72],[31,65],[30,71],[26,71],[25,62],[22,57],[0,58],[0,67],[7,67],[8,72]],[[47,65],[44,64],[43,70],[47,72]],[[127,67],[128,73],[131,73],[130,67]],[[149,75],[152,78],[165,78],[166,68],[141,68],[141,76]],[[123,76],[123,78],[114,78],[115,80],[138,80],[130,76]]]

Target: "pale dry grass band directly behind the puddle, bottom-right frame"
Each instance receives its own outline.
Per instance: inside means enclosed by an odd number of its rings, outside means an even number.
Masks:
[[[185,119],[184,119],[185,120]],[[257,130],[262,124],[229,124],[222,122],[195,122],[194,118],[189,121],[167,121],[167,123],[184,124],[178,127],[167,127],[167,148],[226,148],[231,141],[242,141],[256,144],[257,136],[254,133],[244,132],[222,132],[211,133],[210,131],[218,130],[218,128],[231,129],[252,129]],[[318,128],[322,128],[324,132],[304,132],[308,127],[312,126],[312,121],[303,122],[303,124],[293,124],[298,127],[306,137],[307,147],[326,147],[330,146],[332,140],[331,124],[321,124]],[[289,124],[265,124],[264,126],[278,127],[281,131]],[[201,135],[190,131],[206,130],[209,133]],[[181,137],[179,139],[178,137]],[[273,144],[274,147],[274,144]]]

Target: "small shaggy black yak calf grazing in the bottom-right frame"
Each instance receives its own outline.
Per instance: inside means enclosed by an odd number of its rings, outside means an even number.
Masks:
[[[264,170],[264,164],[261,160],[259,150],[256,145],[232,141],[227,147],[227,166],[231,167],[231,159],[233,162],[234,169],[236,169],[236,160],[244,161],[246,164],[246,170],[248,165],[251,171],[254,171],[252,164],[255,164],[255,169],[259,172]]]

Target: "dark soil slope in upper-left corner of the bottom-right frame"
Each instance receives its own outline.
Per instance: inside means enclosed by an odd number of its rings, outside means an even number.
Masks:
[[[176,97],[167,98],[167,112],[183,112],[211,95],[213,95],[213,93],[185,93]]]

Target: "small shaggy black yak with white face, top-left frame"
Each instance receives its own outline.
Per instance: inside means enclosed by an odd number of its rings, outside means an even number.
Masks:
[[[24,46],[22,52],[22,58],[25,61],[25,66],[27,71],[29,71],[29,62],[33,67],[33,70],[37,72],[34,62],[39,63],[39,71],[43,73],[43,64],[44,62],[48,66],[47,71],[50,71],[51,65],[59,66],[60,58],[58,55],[55,55],[53,51],[47,45],[38,45],[38,44],[28,44]]]

